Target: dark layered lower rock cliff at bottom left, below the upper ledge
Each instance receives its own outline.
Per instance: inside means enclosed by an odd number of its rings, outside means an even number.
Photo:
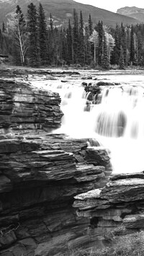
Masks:
[[[87,150],[86,139],[48,133],[3,136],[2,255],[63,255],[69,247],[94,242],[87,230],[89,219],[77,217],[72,207],[73,196],[102,187],[107,172],[102,164],[86,162]]]

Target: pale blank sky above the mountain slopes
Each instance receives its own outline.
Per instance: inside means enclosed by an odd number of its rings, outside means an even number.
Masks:
[[[139,8],[144,9],[144,1],[143,0],[120,0],[120,1],[114,1],[114,0],[74,0],[78,1],[82,4],[91,4],[93,6],[107,9],[111,12],[117,12],[117,9],[125,6],[136,6]]]

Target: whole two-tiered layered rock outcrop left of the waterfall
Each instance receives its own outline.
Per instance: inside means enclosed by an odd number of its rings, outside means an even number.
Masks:
[[[63,115],[57,93],[1,79],[0,95],[1,255],[89,247],[89,220],[76,216],[73,197],[107,182],[107,151],[94,142],[94,159],[86,139],[50,133]]]

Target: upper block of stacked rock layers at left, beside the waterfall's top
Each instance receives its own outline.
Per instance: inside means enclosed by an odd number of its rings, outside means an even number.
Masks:
[[[30,84],[0,79],[0,133],[52,131],[60,127],[63,113],[58,93]]]

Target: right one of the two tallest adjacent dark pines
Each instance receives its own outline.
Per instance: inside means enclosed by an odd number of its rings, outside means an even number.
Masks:
[[[40,62],[42,65],[48,63],[48,50],[47,50],[47,25],[45,20],[45,12],[42,4],[39,6],[38,17],[38,29],[39,29],[39,44],[40,44]]]

